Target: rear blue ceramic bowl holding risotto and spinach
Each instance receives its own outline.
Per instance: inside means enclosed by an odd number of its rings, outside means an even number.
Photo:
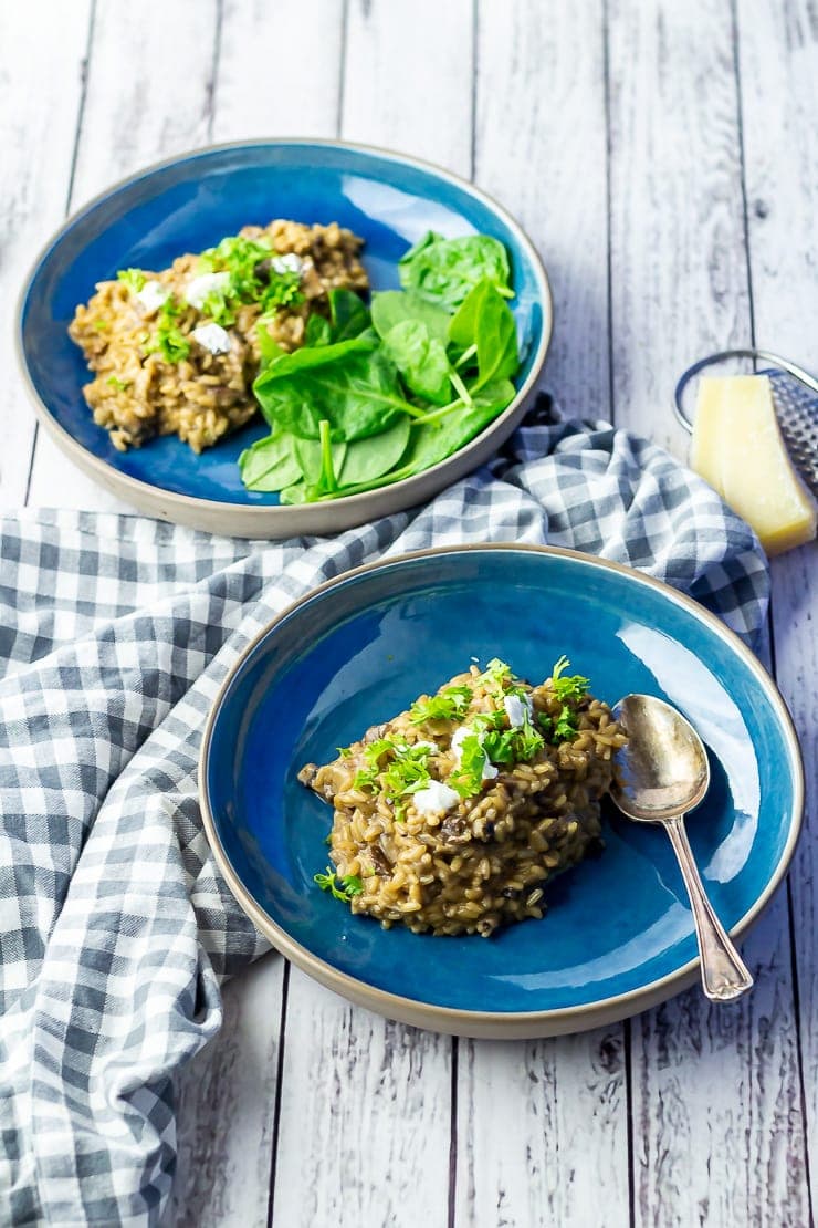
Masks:
[[[427,230],[499,238],[513,266],[522,366],[518,397],[455,457],[416,478],[331,505],[286,508],[247,491],[237,459],[267,430],[259,420],[201,456],[175,436],[118,452],[82,398],[90,375],[67,327],[97,281],[128,266],[161,269],[248,222],[337,221],[365,241],[372,285],[400,285],[397,262]],[[481,464],[524,411],[552,327],[548,281],[531,243],[471,184],[413,158],[324,141],[255,141],[189,154],[112,188],[72,217],[39,257],[20,307],[20,355],[36,405],[56,442],[114,494],[152,516],[243,537],[337,532],[423,502]]]

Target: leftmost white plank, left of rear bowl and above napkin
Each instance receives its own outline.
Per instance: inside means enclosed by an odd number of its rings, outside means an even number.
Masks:
[[[17,295],[65,212],[81,111],[90,4],[0,7],[0,367],[11,373],[0,415],[0,502],[26,497],[34,413],[17,377]],[[21,122],[25,117],[25,124]]]

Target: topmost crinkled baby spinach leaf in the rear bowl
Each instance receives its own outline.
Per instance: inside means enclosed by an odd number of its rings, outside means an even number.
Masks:
[[[472,286],[483,278],[504,298],[513,298],[505,248],[489,235],[443,238],[429,231],[399,262],[401,285],[424,298],[459,307]]]

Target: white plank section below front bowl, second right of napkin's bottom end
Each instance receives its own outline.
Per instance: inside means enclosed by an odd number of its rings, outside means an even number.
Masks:
[[[449,1052],[293,968],[273,1226],[445,1228]]]

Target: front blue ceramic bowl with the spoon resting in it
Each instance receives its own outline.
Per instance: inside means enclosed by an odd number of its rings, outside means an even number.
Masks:
[[[421,691],[499,656],[532,680],[567,653],[616,702],[675,704],[708,747],[713,783],[689,835],[733,933],[782,878],[802,813],[798,744],[758,661],[700,605],[629,569],[548,548],[407,555],[348,572],[264,631],[205,733],[200,790],[237,899],[286,955],[353,1001],[466,1035],[581,1030],[670,997],[697,975],[692,914],[659,828],[606,817],[607,849],[558,878],[549,911],[491,939],[435,938],[323,894],[331,810],[303,764]]]

